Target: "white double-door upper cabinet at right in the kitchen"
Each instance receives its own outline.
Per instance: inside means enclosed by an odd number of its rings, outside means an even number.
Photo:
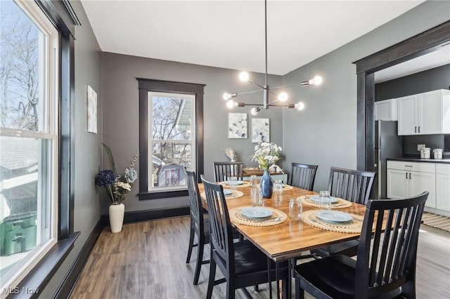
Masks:
[[[398,135],[450,133],[450,91],[397,98]]]

